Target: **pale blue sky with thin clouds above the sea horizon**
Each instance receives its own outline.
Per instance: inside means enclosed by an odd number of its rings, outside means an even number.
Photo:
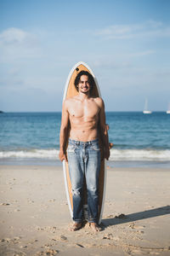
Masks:
[[[0,0],[0,110],[61,111],[71,68],[93,70],[106,111],[166,111],[169,0]]]

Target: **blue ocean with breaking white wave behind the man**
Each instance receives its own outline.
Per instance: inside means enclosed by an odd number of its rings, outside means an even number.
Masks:
[[[61,113],[0,113],[0,165],[57,165]],[[170,114],[107,112],[109,166],[170,167]]]

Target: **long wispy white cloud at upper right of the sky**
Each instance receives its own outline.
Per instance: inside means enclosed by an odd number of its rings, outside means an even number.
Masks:
[[[94,31],[94,35],[108,39],[170,37],[170,26],[156,20],[148,20],[139,24],[107,26]]]

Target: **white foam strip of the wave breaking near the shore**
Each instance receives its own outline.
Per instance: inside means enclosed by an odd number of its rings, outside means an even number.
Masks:
[[[26,159],[52,159],[59,160],[58,149],[32,149],[0,151],[0,159],[7,158],[26,158]],[[170,160],[170,150],[153,149],[111,149],[110,160]]]

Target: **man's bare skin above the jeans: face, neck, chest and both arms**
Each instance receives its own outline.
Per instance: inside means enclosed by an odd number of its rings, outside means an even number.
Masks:
[[[103,147],[101,159],[110,156],[108,135],[105,126],[105,105],[101,98],[90,96],[90,84],[87,75],[82,75],[76,85],[78,94],[63,103],[59,135],[59,159],[67,161],[65,152],[69,123],[70,138],[88,142],[100,137]]]

